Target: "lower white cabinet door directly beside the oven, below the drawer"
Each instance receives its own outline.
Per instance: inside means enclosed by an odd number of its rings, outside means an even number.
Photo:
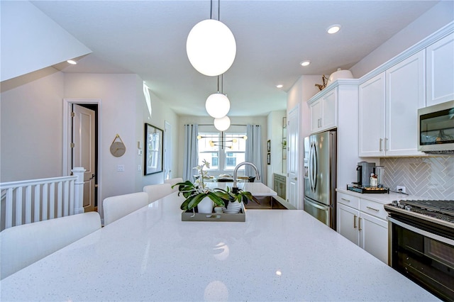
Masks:
[[[360,214],[360,247],[388,264],[388,223],[386,220]]]

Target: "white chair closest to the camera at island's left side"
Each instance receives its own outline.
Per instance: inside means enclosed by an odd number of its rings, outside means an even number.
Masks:
[[[100,228],[101,218],[97,212],[6,228],[0,232],[0,278],[4,279]]]

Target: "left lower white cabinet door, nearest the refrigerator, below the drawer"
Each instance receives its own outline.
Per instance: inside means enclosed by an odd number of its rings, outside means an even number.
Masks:
[[[338,203],[338,233],[355,243],[355,245],[360,245],[359,217],[360,211]]]

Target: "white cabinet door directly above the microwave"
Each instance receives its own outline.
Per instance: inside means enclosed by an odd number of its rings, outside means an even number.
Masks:
[[[454,33],[426,48],[426,104],[454,99]]]

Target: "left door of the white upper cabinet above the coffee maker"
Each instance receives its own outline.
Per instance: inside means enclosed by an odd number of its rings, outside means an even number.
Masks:
[[[360,157],[384,156],[384,85],[384,72],[360,85]]]

